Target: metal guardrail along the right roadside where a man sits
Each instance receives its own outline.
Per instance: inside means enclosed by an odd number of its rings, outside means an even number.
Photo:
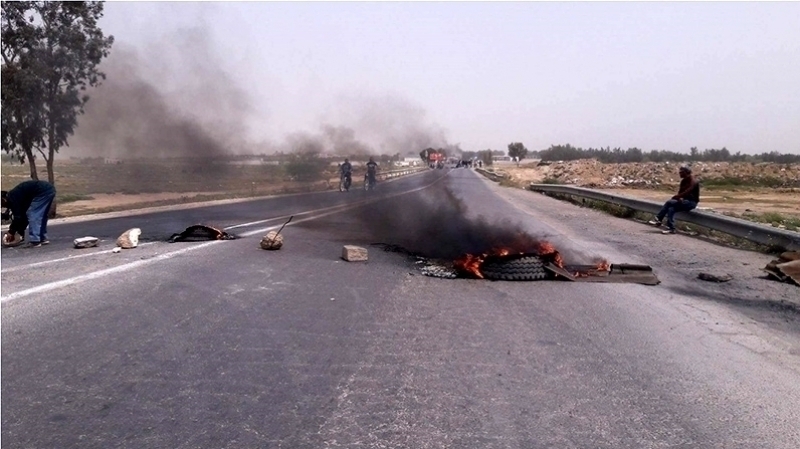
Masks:
[[[629,198],[620,195],[611,195],[606,192],[585,189],[582,187],[554,185],[554,184],[531,184],[530,190],[544,193],[559,193],[562,195],[572,195],[580,198],[588,198],[596,201],[616,204],[628,207],[641,212],[657,214],[661,210],[662,204],[652,201],[645,201],[636,198]],[[760,243],[784,248],[787,251],[800,251],[800,233],[773,228],[771,226],[753,223],[747,220],[728,217],[725,215],[713,214],[693,210],[690,212],[678,212],[675,214],[677,220],[693,223],[715,231],[724,232],[736,237],[740,237],[751,242]]]

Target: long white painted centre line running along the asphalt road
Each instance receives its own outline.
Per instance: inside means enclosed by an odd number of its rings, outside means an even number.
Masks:
[[[344,211],[349,210],[349,209],[355,209],[356,207],[362,206],[363,204],[368,204],[368,203],[371,203],[371,202],[375,202],[375,201],[378,201],[380,199],[393,198],[393,197],[396,197],[396,196],[405,195],[405,194],[412,193],[412,192],[418,192],[420,190],[423,190],[425,188],[430,187],[431,185],[433,185],[436,182],[438,182],[440,179],[442,179],[442,178],[437,178],[435,181],[433,181],[432,183],[430,183],[430,184],[428,184],[426,186],[418,187],[418,188],[415,188],[415,189],[411,189],[411,190],[408,190],[408,191],[405,191],[405,192],[396,193],[396,194],[393,194],[393,195],[385,195],[385,196],[380,196],[380,197],[376,197],[376,198],[370,198],[370,199],[363,200],[363,201],[358,201],[356,203],[348,203],[348,204],[344,204],[344,205],[336,205],[336,206],[332,206],[332,207],[317,209],[315,211],[305,211],[305,212],[301,212],[299,214],[294,214],[295,216],[297,216],[297,215],[309,215],[309,214],[313,214],[314,212],[322,212],[322,213],[314,214],[313,216],[308,217],[308,218],[303,218],[303,219],[300,219],[300,220],[292,221],[287,226],[292,226],[292,225],[303,223],[303,222],[310,221],[310,220],[316,220],[317,218],[322,218],[322,217],[326,217],[328,215],[337,214],[337,213],[344,212]],[[284,218],[284,217],[271,218],[269,220],[261,220],[260,223],[264,223],[264,222],[267,222],[267,221],[270,221],[270,220],[282,219],[282,218]],[[253,222],[253,223],[259,223],[259,222]],[[241,227],[243,225],[234,225],[234,226]],[[228,228],[225,228],[225,229],[232,229],[232,228],[233,227],[231,226],[231,227],[228,227]],[[269,231],[272,231],[272,230],[275,230],[275,229],[278,229],[278,228],[280,228],[280,226],[274,225],[274,226],[269,226],[269,227],[266,227],[266,228],[261,228],[261,229],[256,229],[256,230],[253,230],[253,231],[248,231],[248,232],[242,233],[240,235],[242,237],[250,237],[250,236],[261,234],[261,233],[264,233],[264,232],[269,232]],[[28,289],[25,289],[25,290],[19,290],[19,291],[16,291],[14,293],[11,293],[11,294],[8,294],[8,295],[4,295],[4,296],[0,297],[0,302],[4,303],[4,302],[7,302],[7,301],[12,301],[12,300],[15,300],[15,299],[24,298],[26,296],[31,296],[31,295],[35,295],[35,294],[39,294],[39,293],[44,293],[44,292],[48,292],[48,291],[52,291],[52,290],[57,290],[57,289],[64,288],[64,287],[67,287],[67,286],[70,286],[70,285],[78,284],[80,282],[85,282],[85,281],[89,281],[89,280],[92,280],[92,279],[98,279],[98,278],[101,278],[103,276],[107,276],[109,274],[119,273],[121,271],[126,271],[126,270],[130,270],[130,269],[134,269],[134,268],[143,267],[143,266],[150,265],[152,263],[160,262],[160,261],[163,261],[163,260],[169,260],[169,259],[174,258],[175,256],[179,256],[181,254],[186,254],[186,253],[188,253],[190,251],[194,251],[194,250],[197,250],[197,249],[200,249],[200,248],[206,248],[208,246],[216,245],[216,244],[219,244],[219,243],[222,243],[222,242],[223,242],[223,240],[214,240],[214,241],[210,241],[210,242],[204,242],[204,243],[200,243],[200,244],[195,245],[195,246],[190,246],[188,248],[182,248],[182,249],[179,249],[179,250],[176,250],[176,251],[170,251],[170,252],[158,255],[158,256],[154,256],[154,257],[152,257],[150,259],[137,260],[136,262],[130,262],[130,263],[126,263],[126,264],[123,264],[123,265],[116,266],[116,267],[106,268],[104,270],[99,270],[99,271],[94,271],[92,273],[83,274],[83,275],[80,275],[80,276],[73,276],[71,278],[67,278],[67,279],[64,279],[64,280],[61,280],[61,281],[50,282],[50,283],[47,283],[47,284],[42,284],[42,285],[37,286],[37,287],[32,287],[32,288],[28,288]],[[152,242],[152,243],[155,243],[155,242]],[[101,253],[93,253],[93,254],[101,254]],[[73,256],[73,257],[76,257],[76,256]],[[69,258],[65,258],[65,259],[62,259],[62,260],[68,260],[68,259]],[[52,263],[54,261],[47,261],[47,262]],[[47,263],[47,262],[39,262],[39,264]],[[29,267],[29,266],[31,266],[31,265],[26,265],[26,267]],[[8,270],[6,270],[6,272],[7,271]]]

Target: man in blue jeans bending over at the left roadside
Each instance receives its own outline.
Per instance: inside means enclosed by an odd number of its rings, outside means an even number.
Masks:
[[[12,220],[3,242],[14,241],[15,235],[25,236],[28,228],[28,246],[38,247],[47,240],[47,214],[56,197],[56,188],[46,181],[24,181],[2,192],[3,207],[11,210]]]

